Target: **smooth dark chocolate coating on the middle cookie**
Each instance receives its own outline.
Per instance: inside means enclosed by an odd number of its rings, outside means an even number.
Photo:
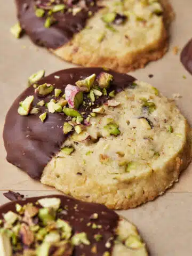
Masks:
[[[38,84],[52,84],[55,88],[61,89],[65,93],[68,84],[74,85],[79,79],[84,79],[92,74],[99,75],[102,68],[71,68],[58,71],[38,81]],[[122,91],[125,87],[131,87],[135,78],[126,74],[107,71],[113,75],[110,90]],[[56,76],[56,77],[55,77]],[[59,77],[59,79],[57,78]],[[57,154],[67,139],[63,134],[62,126],[68,117],[63,113],[47,113],[45,122],[41,122],[39,115],[20,116],[18,114],[19,102],[29,95],[34,95],[33,105],[40,100],[49,102],[53,98],[54,92],[46,96],[38,97],[34,92],[34,87],[28,87],[13,103],[7,113],[4,125],[4,145],[7,151],[7,161],[26,171],[31,178],[40,179],[44,167],[51,158]],[[90,114],[93,108],[102,105],[108,97],[102,95],[95,100],[94,105],[86,108],[81,105],[79,113],[84,112],[84,118]],[[87,101],[87,97],[84,99]],[[44,113],[46,108],[39,107],[40,113]]]

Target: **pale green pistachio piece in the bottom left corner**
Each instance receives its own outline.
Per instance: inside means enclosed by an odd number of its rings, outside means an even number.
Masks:
[[[1,256],[11,256],[12,255],[12,245],[10,237],[8,234],[0,234],[0,255]]]

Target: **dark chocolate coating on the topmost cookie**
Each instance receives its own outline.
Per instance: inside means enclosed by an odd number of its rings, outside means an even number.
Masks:
[[[86,21],[89,19],[89,13],[91,12],[91,14],[94,14],[99,10],[99,7],[95,4],[96,1],[86,1],[86,7],[73,15],[72,12],[68,11],[70,6],[67,5],[67,10],[52,13],[51,17],[55,19],[55,23],[49,28],[45,28],[44,24],[49,10],[45,10],[44,16],[40,18],[36,16],[35,10],[36,6],[38,6],[37,3],[46,5],[51,1],[15,1],[17,4],[18,19],[26,34],[35,44],[52,49],[57,49],[59,46],[70,41],[74,34],[78,33],[86,26]],[[63,4],[63,1],[59,0],[51,3],[51,5],[54,6],[56,2],[57,4]],[[73,1],[70,2],[73,3]],[[91,3],[94,3],[94,5],[92,6]]]

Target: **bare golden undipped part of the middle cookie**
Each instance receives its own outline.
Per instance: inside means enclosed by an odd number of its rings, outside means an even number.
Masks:
[[[119,106],[104,106],[105,114],[91,118],[92,141],[66,140],[63,147],[73,146],[74,153],[54,157],[42,183],[85,201],[127,209],[163,194],[178,180],[191,159],[190,128],[178,108],[143,82],[115,100]],[[117,137],[106,137],[103,130],[111,120],[121,131]]]

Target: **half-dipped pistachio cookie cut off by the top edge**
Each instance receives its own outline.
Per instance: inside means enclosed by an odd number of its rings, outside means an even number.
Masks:
[[[167,51],[168,0],[52,2],[16,0],[18,18],[35,44],[63,60],[127,72]]]

